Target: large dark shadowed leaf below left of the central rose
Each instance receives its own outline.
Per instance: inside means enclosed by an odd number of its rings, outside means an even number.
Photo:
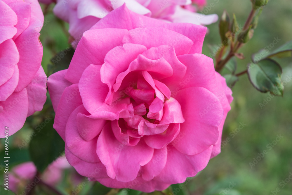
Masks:
[[[46,117],[38,127],[36,136],[29,143],[29,154],[37,170],[43,172],[64,151],[65,143],[53,129],[54,120]]]

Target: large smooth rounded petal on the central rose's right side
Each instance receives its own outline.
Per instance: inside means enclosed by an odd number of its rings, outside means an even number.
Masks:
[[[182,153],[195,155],[215,144],[219,134],[217,126],[223,117],[219,99],[202,87],[183,89],[176,99],[182,106],[185,118],[185,122],[180,124],[180,132],[185,136],[174,144],[175,148]],[[211,109],[207,110],[208,107]]]

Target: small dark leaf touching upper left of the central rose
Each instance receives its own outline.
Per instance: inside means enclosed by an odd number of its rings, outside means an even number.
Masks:
[[[75,50],[72,47],[68,47],[65,50],[60,51],[55,55],[51,62],[52,64],[48,65],[48,73],[56,73],[60,70],[65,70],[69,67],[71,60],[73,58]]]

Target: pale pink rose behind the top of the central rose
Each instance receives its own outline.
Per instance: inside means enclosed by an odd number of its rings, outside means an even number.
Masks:
[[[218,20],[216,14],[203,15],[182,8],[186,5],[190,8],[191,0],[57,0],[53,11],[59,18],[69,23],[69,33],[77,39],[72,43],[76,48],[83,32],[124,3],[135,13],[168,22],[209,25]]]

